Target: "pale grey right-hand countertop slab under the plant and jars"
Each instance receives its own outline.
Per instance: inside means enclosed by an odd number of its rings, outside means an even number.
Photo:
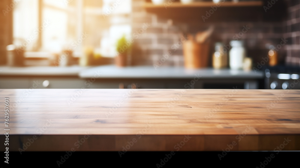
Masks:
[[[80,71],[81,78],[94,77],[95,72],[100,72],[99,78],[172,78],[172,79],[190,79],[196,76],[202,78],[256,78],[262,79],[262,71],[244,71],[213,68],[203,68],[189,70],[184,67],[158,67],[156,70],[153,66],[133,66],[133,67],[116,67],[114,65],[105,65],[91,67]]]

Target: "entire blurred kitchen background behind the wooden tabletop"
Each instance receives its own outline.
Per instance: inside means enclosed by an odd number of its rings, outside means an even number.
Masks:
[[[300,89],[299,0],[1,0],[0,88]]]

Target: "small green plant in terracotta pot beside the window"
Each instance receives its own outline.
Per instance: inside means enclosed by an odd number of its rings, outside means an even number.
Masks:
[[[117,41],[116,45],[117,56],[115,61],[118,67],[125,67],[127,65],[127,57],[130,49],[131,42],[126,39],[125,35],[123,35],[122,38]]]

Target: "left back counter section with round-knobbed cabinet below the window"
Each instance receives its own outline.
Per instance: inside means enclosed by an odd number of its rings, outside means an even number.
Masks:
[[[81,88],[85,81],[78,73],[85,68],[88,67],[3,66],[0,67],[0,88]]]

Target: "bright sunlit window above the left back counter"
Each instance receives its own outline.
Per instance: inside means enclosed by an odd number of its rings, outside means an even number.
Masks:
[[[113,57],[117,39],[131,34],[130,13],[131,0],[19,1],[13,12],[13,43],[29,57],[64,49],[80,56],[85,47]]]

